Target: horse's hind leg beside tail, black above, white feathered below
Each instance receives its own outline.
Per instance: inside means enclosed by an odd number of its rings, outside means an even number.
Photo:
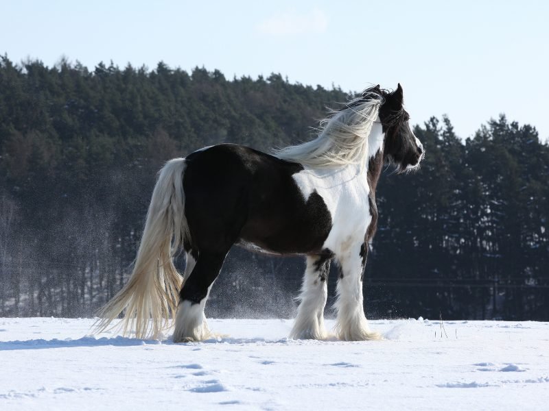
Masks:
[[[198,261],[179,293],[174,343],[205,340],[211,336],[204,308],[211,284],[218,277],[226,253],[200,250]],[[190,260],[192,264],[192,260]],[[188,264],[188,262],[187,262]],[[187,275],[187,270],[185,270]]]

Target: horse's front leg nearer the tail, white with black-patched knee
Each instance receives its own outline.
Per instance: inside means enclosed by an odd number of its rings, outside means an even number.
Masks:
[[[307,256],[299,308],[290,338],[321,340],[327,337],[324,327],[324,307],[328,297],[328,273],[333,254]]]

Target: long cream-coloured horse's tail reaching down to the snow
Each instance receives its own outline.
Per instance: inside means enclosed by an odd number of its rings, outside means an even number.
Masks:
[[[100,309],[95,332],[104,331],[124,310],[119,324],[124,335],[135,329],[137,338],[158,338],[169,325],[183,281],[172,258],[190,238],[183,192],[185,165],[184,158],[174,158],[161,169],[130,280]]]

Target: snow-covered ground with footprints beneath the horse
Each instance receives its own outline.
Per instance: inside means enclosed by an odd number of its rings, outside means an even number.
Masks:
[[[386,340],[345,343],[210,320],[227,336],[187,344],[92,323],[0,319],[0,410],[549,409],[549,323],[371,321]]]

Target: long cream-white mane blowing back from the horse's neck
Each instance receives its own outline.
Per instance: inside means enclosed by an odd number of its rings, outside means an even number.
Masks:
[[[320,121],[314,140],[274,151],[282,160],[299,162],[310,168],[366,164],[368,136],[377,119],[384,97],[379,89],[369,88],[341,110],[332,110]]]

